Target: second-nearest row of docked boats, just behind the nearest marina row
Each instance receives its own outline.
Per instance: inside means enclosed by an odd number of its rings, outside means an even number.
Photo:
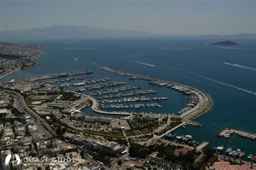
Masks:
[[[133,97],[133,98],[123,98],[114,100],[102,100],[102,103],[123,103],[123,102],[136,102],[136,101],[151,101],[151,100],[167,100],[167,97]]]

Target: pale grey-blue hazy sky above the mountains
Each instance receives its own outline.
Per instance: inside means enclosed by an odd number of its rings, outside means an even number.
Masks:
[[[256,1],[0,0],[0,29],[87,25],[153,33],[255,33]]]

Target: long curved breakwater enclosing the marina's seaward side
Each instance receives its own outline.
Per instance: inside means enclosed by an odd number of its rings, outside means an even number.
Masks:
[[[146,76],[141,76],[138,74],[132,74],[132,73],[128,73],[125,71],[119,71],[119,70],[113,70],[110,69],[109,67],[100,67],[103,70],[106,71],[110,71],[113,73],[117,73],[123,76],[128,76],[128,77],[132,77],[132,78],[138,78],[138,79],[143,79],[143,80],[147,80],[149,82],[155,81],[158,82],[160,84],[164,84],[164,85],[172,85],[172,86],[180,86],[181,88],[185,88],[190,90],[192,93],[194,93],[197,97],[198,97],[198,103],[196,106],[186,110],[185,112],[183,112],[182,114],[180,114],[180,117],[182,120],[185,121],[191,121],[194,118],[197,118],[199,115],[205,113],[212,104],[212,100],[211,98],[204,92],[199,91],[198,89],[195,89],[193,87],[190,86],[186,86],[183,84],[178,84],[178,83],[173,83],[171,81],[166,81],[166,80],[160,80],[160,79],[156,79],[156,78],[151,78],[151,77],[146,77]],[[191,124],[195,125],[195,123],[191,122]],[[197,126],[200,126],[200,124],[197,124]]]

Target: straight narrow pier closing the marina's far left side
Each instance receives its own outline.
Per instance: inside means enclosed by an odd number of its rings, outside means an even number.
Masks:
[[[69,73],[56,73],[56,74],[48,74],[45,76],[39,76],[39,77],[33,77],[33,78],[24,78],[21,80],[26,81],[35,81],[35,80],[44,80],[49,78],[59,78],[59,77],[68,77],[68,76],[76,76],[79,74],[92,74],[92,71],[75,71],[75,72],[69,72]]]

